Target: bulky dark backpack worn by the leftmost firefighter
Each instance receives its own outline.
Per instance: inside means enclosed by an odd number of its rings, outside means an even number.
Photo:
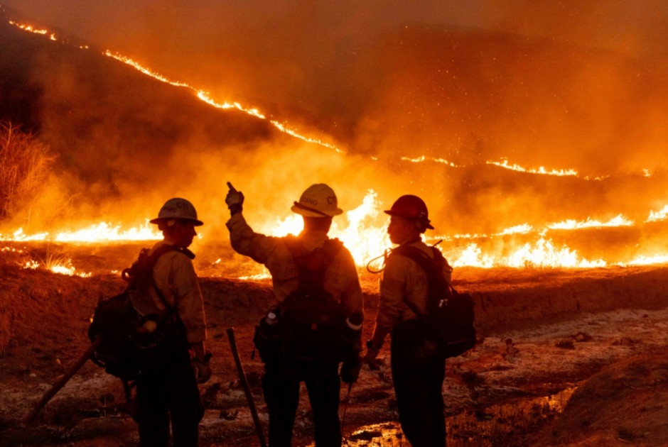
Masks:
[[[175,245],[161,245],[151,255],[148,248],[141,249],[139,258],[122,272],[123,280],[128,283],[126,289],[112,297],[101,297],[88,327],[90,341],[99,339],[91,360],[107,373],[119,377],[124,385],[139,378],[142,371],[163,365],[178,346],[187,346],[185,327],[178,318],[176,304],[168,305],[153,278],[156,261],[171,250],[194,257],[190,250]],[[134,309],[131,295],[148,293],[148,287],[154,287],[167,307],[163,316],[140,316]]]

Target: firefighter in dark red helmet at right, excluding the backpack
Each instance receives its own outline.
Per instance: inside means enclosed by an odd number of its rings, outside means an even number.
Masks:
[[[390,221],[387,233],[397,245],[409,245],[433,258],[422,241],[422,233],[433,229],[426,204],[414,195],[399,197],[384,211]],[[444,267],[449,282],[452,269]],[[446,424],[441,387],[445,378],[445,357],[424,346],[419,316],[406,304],[409,300],[421,313],[427,306],[426,272],[406,256],[389,254],[380,281],[380,300],[373,336],[367,341],[365,363],[376,369],[376,357],[390,334],[392,381],[397,397],[399,422],[413,447],[446,445]]]

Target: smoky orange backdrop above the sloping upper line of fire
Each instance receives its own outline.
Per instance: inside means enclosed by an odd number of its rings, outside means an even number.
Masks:
[[[303,111],[357,150],[399,153],[411,142],[417,147],[405,150],[407,155],[431,151],[468,160],[470,153],[461,154],[471,151],[467,145],[486,140],[483,157],[550,165],[551,156],[537,154],[558,151],[556,167],[581,168],[593,166],[590,159],[603,148],[609,153],[611,143],[628,152],[630,143],[620,138],[637,141],[632,152],[638,160],[606,159],[610,166],[601,170],[609,171],[618,163],[623,169],[652,168],[645,165],[652,158],[648,153],[654,152],[655,137],[663,136],[652,135],[659,123],[647,122],[660,121],[662,113],[652,95],[666,94],[663,77],[655,77],[668,66],[668,7],[662,1],[2,4],[217,98],[259,106],[288,121]],[[426,31],[446,29],[483,37],[463,49],[447,41],[425,48],[431,38]],[[490,33],[497,32],[553,43],[547,50],[529,47],[532,53],[526,54],[521,40],[510,50],[493,42]],[[471,67],[461,70],[465,52],[484,59],[469,58]],[[573,52],[582,54],[569,59]],[[418,114],[426,118],[416,122]],[[375,143],[375,133],[396,128],[397,121],[410,138],[399,131]],[[554,147],[538,149],[549,145]]]

